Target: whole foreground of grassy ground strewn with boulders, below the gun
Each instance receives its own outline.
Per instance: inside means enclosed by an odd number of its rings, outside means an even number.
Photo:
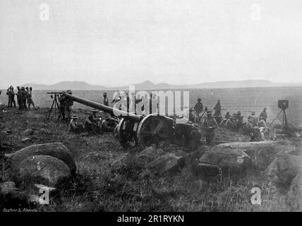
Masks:
[[[211,149],[202,146],[190,153],[164,143],[159,148],[124,150],[111,133],[73,134],[54,116],[47,120],[48,112],[48,108],[1,109],[0,210],[294,211],[301,207],[297,168],[301,138],[280,136],[260,146],[231,146],[224,143],[247,142],[248,136],[219,128],[216,140],[222,144]],[[83,122],[90,112],[77,109],[75,114]],[[16,154],[43,143],[61,144],[47,153],[38,146]],[[39,177],[28,177],[25,172],[34,174],[36,167]],[[40,195],[35,183],[55,188],[49,205],[35,202]],[[261,191],[260,206],[250,203],[255,186]]]

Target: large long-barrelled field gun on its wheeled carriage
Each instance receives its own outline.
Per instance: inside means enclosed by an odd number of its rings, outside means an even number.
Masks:
[[[126,147],[129,143],[145,147],[162,141],[169,141],[186,146],[194,150],[200,143],[200,132],[193,124],[176,124],[174,119],[160,114],[138,115],[125,112],[121,109],[92,102],[69,93],[62,93],[67,98],[80,104],[107,112],[119,118],[115,133],[121,145]]]

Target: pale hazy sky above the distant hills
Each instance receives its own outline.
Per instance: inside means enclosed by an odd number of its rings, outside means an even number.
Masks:
[[[302,82],[301,0],[0,0],[1,88],[244,79]]]

